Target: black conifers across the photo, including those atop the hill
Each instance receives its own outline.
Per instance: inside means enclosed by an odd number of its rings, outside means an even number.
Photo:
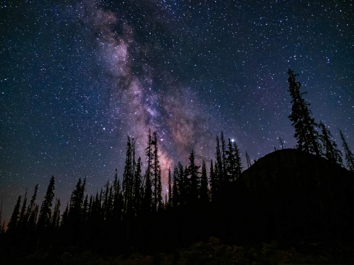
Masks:
[[[297,74],[290,69],[288,74],[292,99],[289,119],[295,129],[296,148],[343,166],[342,153],[330,131],[311,117],[309,104],[303,99],[305,93],[300,92],[301,83],[296,81]],[[339,133],[347,166],[354,171],[353,153],[340,130]],[[89,195],[85,194],[86,178],[79,178],[63,213],[60,199],[54,201],[54,176],[50,178],[41,206],[36,204],[38,185],[30,200],[26,190],[23,198],[18,196],[6,232],[5,222],[2,222],[1,242],[16,245],[28,253],[47,245],[130,253],[182,246],[207,235],[227,235],[229,238],[240,235],[241,227],[229,226],[231,221],[236,226],[241,224],[241,217],[232,211],[244,207],[234,200],[234,194],[241,196],[243,192],[239,184],[240,150],[235,142],[225,139],[223,131],[220,139],[216,137],[215,159],[210,161],[209,170],[204,160],[197,165],[192,151],[188,165],[179,162],[169,169],[165,196],[161,185],[158,133],[152,133],[150,129],[144,159],[145,169],[142,158],[136,155],[136,140],[128,136],[122,181],[116,169],[112,183],[107,181],[100,191]],[[246,160],[250,167],[247,152]],[[225,216],[232,216],[227,223]]]

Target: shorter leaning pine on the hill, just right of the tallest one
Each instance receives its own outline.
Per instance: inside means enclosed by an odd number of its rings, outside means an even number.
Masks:
[[[342,166],[342,153],[338,150],[336,142],[330,139],[332,138],[331,132],[325,127],[322,122],[320,122],[319,126],[322,130],[322,135],[320,135],[319,138],[322,142],[322,146],[324,147],[325,157],[331,163],[335,163],[339,166]]]

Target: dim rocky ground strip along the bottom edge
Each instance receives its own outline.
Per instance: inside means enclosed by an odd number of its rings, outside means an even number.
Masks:
[[[45,253],[37,257],[2,261],[1,264],[58,264],[58,265],[134,265],[134,264],[353,264],[353,243],[326,244],[322,242],[299,242],[295,246],[284,247],[278,241],[249,246],[194,243],[189,248],[173,253],[155,255],[132,254],[129,258],[107,257],[84,251],[64,252],[58,260],[51,260]]]

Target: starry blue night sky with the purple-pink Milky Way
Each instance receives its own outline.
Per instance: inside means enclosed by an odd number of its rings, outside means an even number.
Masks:
[[[0,1],[3,217],[36,183],[41,202],[52,175],[63,207],[79,177],[96,193],[121,177],[127,135],[143,154],[148,128],[164,189],[192,149],[209,167],[221,130],[244,169],[246,150],[294,147],[289,68],[315,121],[353,150],[353,21],[347,0]]]

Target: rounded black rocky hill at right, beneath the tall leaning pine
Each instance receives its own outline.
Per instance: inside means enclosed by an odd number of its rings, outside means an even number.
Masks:
[[[352,239],[354,173],[344,167],[283,149],[256,161],[241,182],[245,226],[254,237]]]

